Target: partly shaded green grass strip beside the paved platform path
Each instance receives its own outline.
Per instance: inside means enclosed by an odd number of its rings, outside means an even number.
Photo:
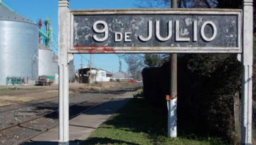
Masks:
[[[167,111],[156,108],[143,98],[132,98],[83,145],[220,145],[216,138],[184,136],[167,138]]]

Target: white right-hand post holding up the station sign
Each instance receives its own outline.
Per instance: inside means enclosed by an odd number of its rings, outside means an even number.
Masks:
[[[252,62],[253,62],[253,0],[244,0],[242,54],[242,123],[241,144],[252,141]]]

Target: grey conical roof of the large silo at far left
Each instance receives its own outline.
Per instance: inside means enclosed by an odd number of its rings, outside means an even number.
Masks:
[[[0,4],[0,21],[17,21],[17,22],[25,22],[25,23],[32,23],[28,18],[24,18],[19,14],[15,13],[9,8],[5,7],[4,5]]]

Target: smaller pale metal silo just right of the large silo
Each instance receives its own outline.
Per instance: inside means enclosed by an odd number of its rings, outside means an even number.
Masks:
[[[38,75],[53,76],[52,50],[39,43],[38,59]]]

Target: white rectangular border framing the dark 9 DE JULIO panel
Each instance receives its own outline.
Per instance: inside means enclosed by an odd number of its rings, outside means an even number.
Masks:
[[[201,16],[201,15],[224,15],[224,16],[237,16],[237,28],[238,35],[237,37],[237,46],[236,47],[177,47],[177,46],[132,46],[132,47],[124,47],[124,46],[106,46],[106,47],[97,47],[95,52],[92,51],[92,47],[85,46],[84,48],[76,48],[74,47],[74,17],[75,16],[107,16],[107,15],[134,15],[134,14],[144,14],[144,15],[189,15],[189,16]],[[173,26],[175,27],[175,26]],[[70,48],[68,49],[68,53],[242,53],[241,46],[241,28],[242,28],[242,11],[238,9],[107,9],[107,10],[71,10],[70,11]],[[198,30],[199,31],[199,30]],[[173,34],[175,35],[175,34]],[[216,38],[218,39],[218,38]],[[192,40],[191,40],[192,41]],[[135,42],[136,43],[136,42]],[[182,42],[181,42],[182,43]],[[102,51],[104,48],[111,51]]]

